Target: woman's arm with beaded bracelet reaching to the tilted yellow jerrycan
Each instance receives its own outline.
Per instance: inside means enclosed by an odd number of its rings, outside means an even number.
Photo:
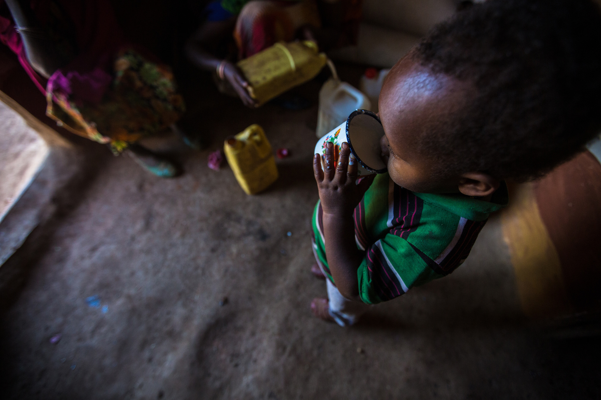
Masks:
[[[254,108],[256,101],[248,94],[245,77],[232,62],[215,56],[225,38],[231,37],[236,17],[226,21],[207,21],[201,25],[186,43],[186,55],[192,64],[206,71],[217,71],[221,66],[224,79],[230,83],[245,106]]]

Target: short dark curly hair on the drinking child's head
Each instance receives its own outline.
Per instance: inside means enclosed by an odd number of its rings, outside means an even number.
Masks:
[[[419,149],[438,173],[542,176],[601,130],[601,14],[590,0],[488,0],[435,26],[413,52],[471,80],[466,112]]]

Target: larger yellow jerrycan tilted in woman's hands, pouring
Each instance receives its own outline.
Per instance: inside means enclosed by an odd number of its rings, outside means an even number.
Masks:
[[[294,86],[313,79],[326,65],[314,41],[279,42],[238,62],[248,80],[249,95],[262,106]]]

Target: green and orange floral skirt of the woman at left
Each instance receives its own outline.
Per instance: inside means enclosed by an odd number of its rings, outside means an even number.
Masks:
[[[133,50],[117,56],[114,80],[98,104],[76,101],[64,91],[46,91],[46,114],[59,126],[120,154],[129,143],[165,130],[186,110],[171,70]]]

